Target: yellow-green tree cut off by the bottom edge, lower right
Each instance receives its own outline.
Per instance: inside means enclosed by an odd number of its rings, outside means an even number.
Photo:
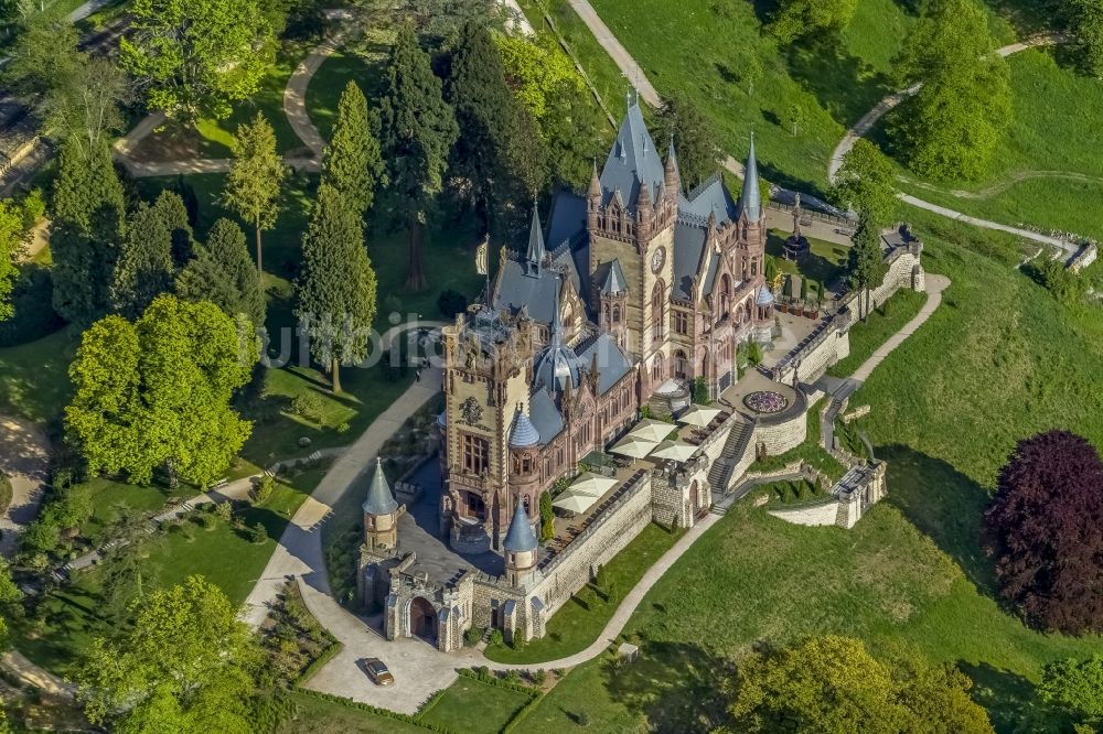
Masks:
[[[731,730],[748,734],[993,732],[968,695],[972,681],[956,668],[918,656],[884,663],[848,637],[752,655],[739,666],[736,686]]]

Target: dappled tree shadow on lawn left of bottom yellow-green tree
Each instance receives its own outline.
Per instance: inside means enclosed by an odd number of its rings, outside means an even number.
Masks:
[[[653,732],[708,732],[727,719],[720,691],[735,667],[696,645],[643,640],[639,659],[607,659],[601,673],[610,698],[646,716]]]

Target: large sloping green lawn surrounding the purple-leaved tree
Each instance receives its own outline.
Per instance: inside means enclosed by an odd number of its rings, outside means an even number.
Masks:
[[[979,521],[1016,440],[1058,427],[1103,447],[1103,319],[919,234],[924,267],[953,285],[852,399],[872,407],[857,425],[888,462],[886,500],[850,531],[737,504],[629,622],[641,660],[619,673],[608,656],[577,668],[526,731],[569,730],[583,712],[597,731],[706,731],[721,722],[717,683],[730,661],[760,640],[828,633],[878,655],[907,645],[960,666],[997,731],[1057,725],[1034,698],[1042,666],[1103,652],[1103,639],[1039,634],[1002,608]]]

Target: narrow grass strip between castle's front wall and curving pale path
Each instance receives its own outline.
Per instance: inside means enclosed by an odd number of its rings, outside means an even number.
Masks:
[[[540,662],[586,649],[604,629],[624,596],[676,540],[677,535],[649,525],[601,569],[603,587],[588,584],[571,596],[548,622],[545,637],[528,643],[522,650],[504,645],[489,647],[486,657],[497,662]]]

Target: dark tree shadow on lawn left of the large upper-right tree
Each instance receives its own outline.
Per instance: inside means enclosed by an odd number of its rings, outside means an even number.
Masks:
[[[889,91],[891,79],[861,58],[843,51],[837,34],[800,41],[789,46],[789,75],[815,96],[836,122],[849,126]]]

